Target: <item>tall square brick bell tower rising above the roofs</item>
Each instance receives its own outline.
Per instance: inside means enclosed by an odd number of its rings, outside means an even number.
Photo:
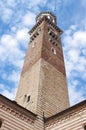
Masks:
[[[29,34],[16,101],[38,115],[44,113],[49,117],[69,107],[62,30],[51,12],[42,12]]]

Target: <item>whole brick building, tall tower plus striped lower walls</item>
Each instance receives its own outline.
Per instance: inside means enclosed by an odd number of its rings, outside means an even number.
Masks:
[[[0,130],[86,130],[86,101],[69,105],[56,17],[40,13],[29,34],[16,99],[0,95]]]

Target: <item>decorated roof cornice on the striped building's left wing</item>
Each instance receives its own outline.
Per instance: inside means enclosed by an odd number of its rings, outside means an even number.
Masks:
[[[0,94],[0,109],[30,123],[34,123],[37,115],[18,105],[15,101]]]

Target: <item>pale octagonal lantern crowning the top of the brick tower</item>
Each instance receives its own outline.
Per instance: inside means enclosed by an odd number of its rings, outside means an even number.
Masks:
[[[39,22],[43,17],[47,17],[50,21],[52,21],[54,24],[56,24],[56,17],[54,14],[51,12],[41,12],[37,17],[36,17],[36,22]]]

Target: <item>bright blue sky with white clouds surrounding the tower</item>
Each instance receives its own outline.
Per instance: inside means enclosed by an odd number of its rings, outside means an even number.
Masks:
[[[0,93],[15,99],[29,34],[41,11],[64,31],[62,45],[70,104],[86,99],[86,0],[0,0]]]

